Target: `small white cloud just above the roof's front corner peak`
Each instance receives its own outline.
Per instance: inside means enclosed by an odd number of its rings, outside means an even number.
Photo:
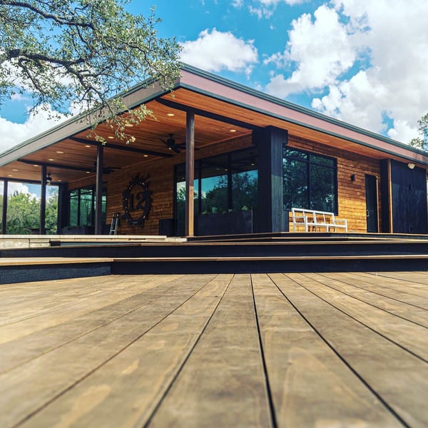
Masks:
[[[251,73],[258,62],[253,40],[238,39],[230,31],[201,31],[195,41],[183,43],[181,61],[207,71],[222,70]]]

